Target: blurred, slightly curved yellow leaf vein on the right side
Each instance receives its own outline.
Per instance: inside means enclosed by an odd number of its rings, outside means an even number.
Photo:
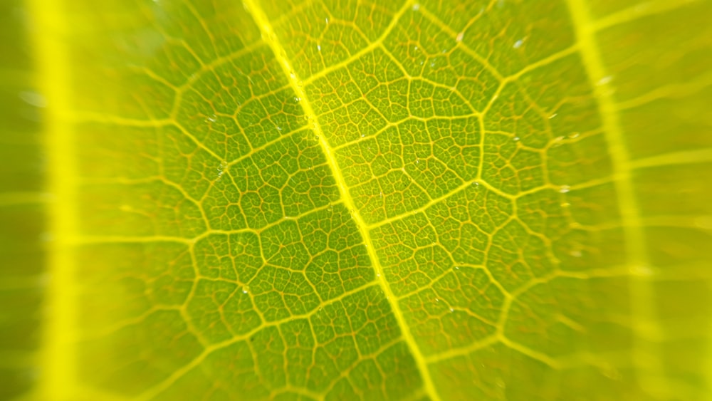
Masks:
[[[631,161],[623,130],[620,126],[616,102],[612,89],[609,86],[609,75],[601,57],[595,38],[595,22],[591,18],[585,0],[567,0],[567,5],[572,17],[577,41],[580,45],[580,54],[586,73],[598,100],[601,119],[604,127],[604,136],[609,148],[611,163],[614,170],[614,182],[618,194],[619,209],[627,246],[627,264],[631,269],[631,307],[636,330],[640,337],[642,328],[656,330],[654,325],[656,316],[651,307],[654,299],[649,280],[639,271],[649,269],[646,255],[645,239],[641,229],[638,204],[635,197],[631,177]],[[669,386],[664,381],[664,368],[649,340],[637,338],[634,343],[634,358],[638,380],[644,390],[662,392],[671,395]],[[645,370],[640,370],[644,368]],[[654,372],[654,376],[650,373]],[[656,394],[654,394],[656,395]]]

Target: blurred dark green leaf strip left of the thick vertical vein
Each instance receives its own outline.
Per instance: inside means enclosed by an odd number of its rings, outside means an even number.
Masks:
[[[46,288],[41,107],[19,1],[0,1],[0,400],[36,384]],[[24,17],[24,18],[23,18]]]

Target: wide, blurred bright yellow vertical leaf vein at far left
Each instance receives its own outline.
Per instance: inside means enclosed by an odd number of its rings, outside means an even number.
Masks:
[[[46,294],[46,321],[42,346],[41,400],[71,400],[75,387],[76,363],[73,347],[76,292],[73,256],[67,240],[75,225],[73,178],[73,137],[71,127],[62,120],[67,114],[68,51],[63,42],[63,9],[59,0],[28,0],[34,18],[33,45],[36,51],[38,90],[46,97],[43,115],[45,146],[48,155],[48,192],[55,199],[48,204],[49,226],[53,236],[48,249],[50,284]]]

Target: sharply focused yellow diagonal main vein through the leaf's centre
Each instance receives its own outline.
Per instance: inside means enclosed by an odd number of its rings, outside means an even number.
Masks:
[[[378,261],[378,258],[376,255],[376,250],[372,244],[370,234],[368,233],[367,225],[365,224],[361,215],[358,213],[358,209],[356,209],[356,207],[355,207],[353,199],[351,198],[351,195],[348,191],[348,187],[346,186],[344,177],[341,174],[341,170],[338,167],[338,164],[337,164],[336,159],[333,155],[333,152],[331,151],[331,148],[329,147],[328,143],[326,142],[324,134],[321,130],[321,126],[317,120],[316,113],[314,113],[314,110],[311,106],[309,99],[307,98],[305,90],[304,90],[303,86],[300,85],[300,80],[299,80],[298,76],[296,75],[296,72],[292,68],[291,63],[289,62],[288,58],[286,57],[286,52],[285,52],[284,48],[281,46],[281,43],[279,43],[278,38],[272,29],[272,25],[270,24],[269,20],[267,19],[267,16],[264,14],[264,11],[262,11],[259,4],[257,4],[257,1],[256,0],[245,0],[244,4],[246,5],[248,12],[252,15],[252,18],[258,25],[258,27],[262,33],[263,41],[265,41],[272,49],[277,61],[279,61],[285,75],[287,76],[287,79],[289,80],[290,86],[292,87],[292,89],[294,90],[294,92],[298,96],[298,98],[300,98],[300,105],[302,106],[302,109],[304,110],[305,116],[313,123],[312,128],[313,128],[315,134],[318,136],[319,145],[324,152],[324,155],[326,157],[328,165],[331,169],[332,175],[336,181],[337,187],[339,188],[341,198],[342,198],[345,206],[352,212],[352,217],[353,217],[354,221],[356,222],[356,225],[358,226],[358,229],[361,233],[362,239],[366,246],[366,250],[368,252],[368,256],[370,257],[371,262],[374,265],[374,268],[376,270],[377,278],[380,283],[380,286],[382,287],[384,293],[387,296],[387,299],[391,306],[393,314],[394,314],[394,316],[402,330],[403,338],[412,353],[412,356],[417,364],[419,373],[422,375],[422,380],[423,380],[423,385],[424,385],[425,391],[426,391],[427,395],[431,398],[431,400],[439,401],[440,398],[439,398],[438,393],[435,390],[435,386],[433,385],[433,382],[431,380],[430,373],[429,373],[427,364],[425,362],[425,358],[422,355],[422,353],[420,352],[418,345],[415,342],[415,339],[413,338],[413,335],[410,332],[410,329],[406,324],[403,313],[400,310],[400,307],[398,306],[397,298],[394,296],[393,291],[391,291],[391,288],[390,288],[388,282],[386,281],[385,275],[383,274],[382,266],[380,265],[380,263]]]

